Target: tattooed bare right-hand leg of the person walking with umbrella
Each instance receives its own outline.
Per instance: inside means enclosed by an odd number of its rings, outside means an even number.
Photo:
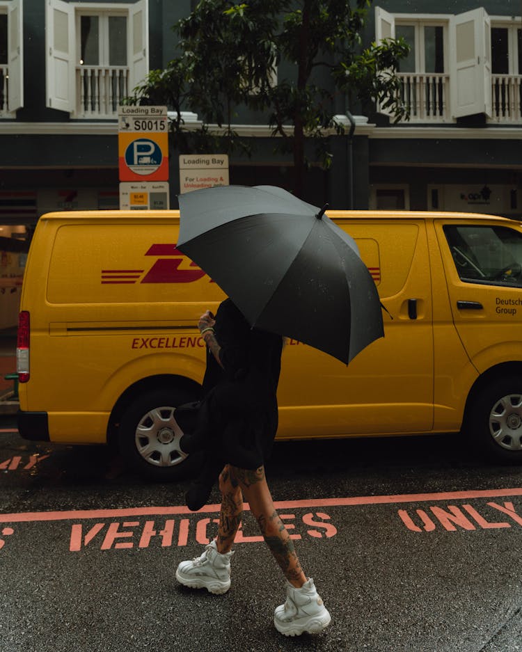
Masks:
[[[252,514],[258,520],[264,541],[267,542],[285,578],[294,587],[302,587],[306,582],[306,575],[299,563],[294,542],[274,507],[274,500],[264,477],[264,467],[260,466],[255,471],[235,467],[233,470]]]

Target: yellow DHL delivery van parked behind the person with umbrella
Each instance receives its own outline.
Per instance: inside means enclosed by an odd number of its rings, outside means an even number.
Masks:
[[[278,438],[459,433],[491,459],[522,461],[522,227],[433,212],[329,216],[374,278],[385,337],[348,366],[290,341]],[[179,214],[40,218],[22,288],[19,432],[117,442],[144,475],[190,466],[176,407],[200,395],[196,326],[221,289],[176,248]]]

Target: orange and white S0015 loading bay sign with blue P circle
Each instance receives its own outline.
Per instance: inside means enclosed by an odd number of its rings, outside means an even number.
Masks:
[[[166,106],[118,106],[120,181],[168,181]]]

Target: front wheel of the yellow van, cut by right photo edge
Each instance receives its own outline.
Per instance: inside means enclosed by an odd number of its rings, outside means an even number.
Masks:
[[[467,429],[488,459],[521,464],[522,378],[497,378],[483,388],[470,406]]]

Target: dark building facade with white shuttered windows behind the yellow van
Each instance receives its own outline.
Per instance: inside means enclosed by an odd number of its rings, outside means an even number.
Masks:
[[[0,329],[16,323],[38,217],[118,207],[118,104],[173,58],[171,26],[193,4],[0,0]],[[522,218],[521,13],[514,0],[374,2],[365,41],[411,45],[400,70],[411,118],[394,125],[379,107],[356,115],[338,98],[346,135],[331,137],[333,166],[313,171],[305,199]],[[288,187],[290,159],[275,156],[268,125],[252,121],[240,114],[235,125],[256,146],[250,159],[231,159],[230,183]]]

